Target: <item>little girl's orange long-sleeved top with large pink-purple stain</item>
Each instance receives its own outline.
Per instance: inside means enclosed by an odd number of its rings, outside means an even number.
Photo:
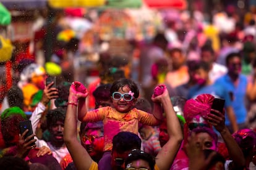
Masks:
[[[112,150],[113,137],[119,132],[128,131],[138,134],[139,123],[150,126],[156,126],[161,123],[152,114],[138,110],[137,108],[133,108],[127,113],[121,113],[112,107],[103,107],[87,111],[83,121],[103,121],[105,137],[104,151]]]

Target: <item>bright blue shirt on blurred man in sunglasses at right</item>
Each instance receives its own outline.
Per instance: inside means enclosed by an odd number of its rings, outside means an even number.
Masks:
[[[231,81],[231,78],[228,76],[228,74],[216,79],[215,84],[220,84],[220,86],[223,86],[225,89],[228,89],[228,91],[232,93],[232,106],[236,115],[236,121],[238,124],[245,123],[247,116],[247,110],[245,108],[245,95],[248,84],[246,76],[239,75],[239,83],[237,84],[237,87],[234,86],[233,81]],[[230,122],[226,118],[226,125],[229,124]]]

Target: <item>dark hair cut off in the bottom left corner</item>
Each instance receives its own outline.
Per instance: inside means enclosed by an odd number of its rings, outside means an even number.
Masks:
[[[1,169],[29,170],[28,163],[17,156],[3,156],[0,158]]]

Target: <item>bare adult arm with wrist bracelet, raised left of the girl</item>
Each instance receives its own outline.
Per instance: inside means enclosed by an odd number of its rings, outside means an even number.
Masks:
[[[72,85],[71,85],[72,86]],[[70,87],[72,88],[72,87]],[[75,102],[75,94],[70,90],[69,101]],[[77,98],[76,98],[77,100]],[[77,169],[90,169],[93,162],[87,150],[83,148],[77,139],[77,107],[75,105],[67,105],[66,118],[64,123],[64,142],[69,150],[70,155]]]

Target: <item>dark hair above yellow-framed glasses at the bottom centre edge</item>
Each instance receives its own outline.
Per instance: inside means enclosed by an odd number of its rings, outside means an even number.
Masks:
[[[129,155],[126,158],[126,166],[129,163],[132,163],[132,161],[136,161],[136,160],[144,160],[147,161],[147,163],[150,166],[150,169],[154,169],[155,168],[155,158],[153,156],[151,156],[150,154],[148,154],[147,152],[143,152],[142,150],[132,150],[132,152],[129,153]]]

